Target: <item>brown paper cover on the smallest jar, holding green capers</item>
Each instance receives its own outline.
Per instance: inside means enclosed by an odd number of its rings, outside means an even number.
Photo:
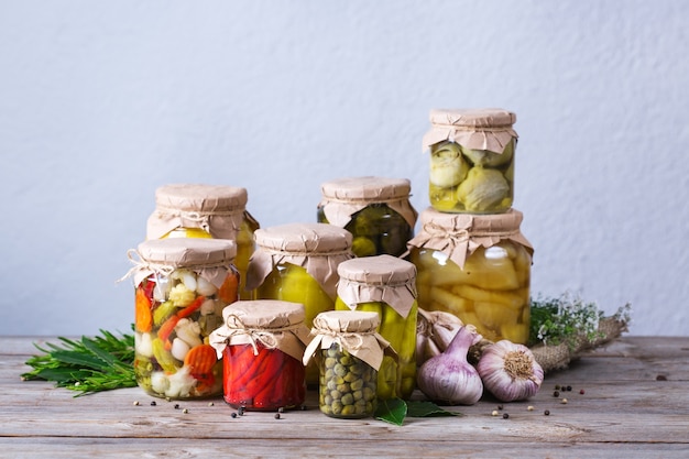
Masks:
[[[314,319],[313,339],[304,352],[304,364],[308,364],[318,349],[330,349],[332,343],[337,342],[378,371],[385,350],[393,352],[390,343],[375,332],[379,325],[380,317],[376,313],[360,310],[320,313]]]

